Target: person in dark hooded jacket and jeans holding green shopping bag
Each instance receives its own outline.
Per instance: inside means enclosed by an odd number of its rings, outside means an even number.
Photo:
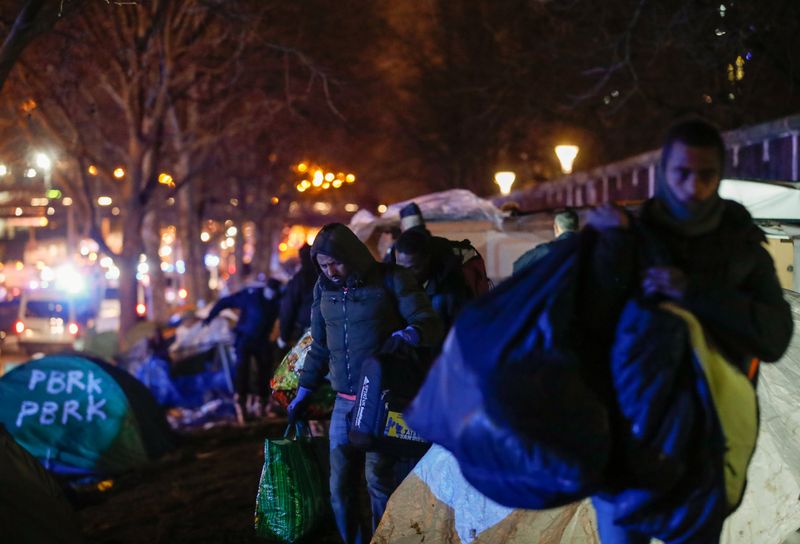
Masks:
[[[323,227],[311,248],[321,274],[311,308],[311,349],[300,373],[291,419],[302,414],[308,395],[330,375],[336,391],[330,426],[331,505],[342,540],[369,542],[372,531],[360,522],[359,472],[365,471],[372,530],[389,495],[411,471],[415,460],[353,447],[347,416],[360,386],[361,365],[391,337],[414,347],[431,348],[441,339],[441,323],[411,272],[378,263],[345,225]]]

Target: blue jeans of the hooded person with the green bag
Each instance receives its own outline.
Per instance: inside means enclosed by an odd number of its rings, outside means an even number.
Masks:
[[[366,544],[386,510],[389,496],[414,468],[418,459],[359,450],[347,438],[347,415],[355,401],[336,397],[329,431],[331,444],[331,506],[339,535],[347,544]],[[371,527],[360,519],[361,470],[367,480]]]

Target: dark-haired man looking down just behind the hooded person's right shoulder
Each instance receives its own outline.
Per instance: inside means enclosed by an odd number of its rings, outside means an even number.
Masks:
[[[473,298],[461,271],[461,259],[453,253],[448,241],[439,243],[420,229],[401,234],[395,251],[397,264],[414,273],[431,299],[445,332],[449,331],[461,308]]]

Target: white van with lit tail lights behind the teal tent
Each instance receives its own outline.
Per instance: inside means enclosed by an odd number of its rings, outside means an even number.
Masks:
[[[81,333],[75,301],[59,291],[24,291],[14,332],[28,354],[73,349]]]

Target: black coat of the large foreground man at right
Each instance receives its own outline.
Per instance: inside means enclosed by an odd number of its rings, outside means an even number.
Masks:
[[[724,355],[746,372],[755,357],[780,359],[794,323],[775,266],[763,247],[764,234],[740,204],[725,200],[719,227],[684,237],[660,227],[648,202],[641,222],[657,243],[642,244],[642,266],[672,265],[689,283],[683,307],[711,334]],[[665,262],[666,261],[666,262]]]

